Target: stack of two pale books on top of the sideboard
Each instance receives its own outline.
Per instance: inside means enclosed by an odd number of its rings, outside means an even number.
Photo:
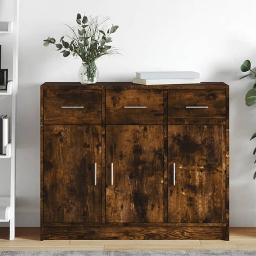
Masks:
[[[144,85],[162,84],[197,84],[200,83],[200,73],[192,71],[169,72],[135,72],[133,83]]]

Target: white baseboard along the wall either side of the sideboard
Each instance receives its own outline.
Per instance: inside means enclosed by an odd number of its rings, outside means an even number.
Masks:
[[[256,210],[235,209],[229,212],[230,227],[256,227]],[[16,227],[40,227],[39,209],[16,209]],[[8,227],[9,223],[2,222],[0,227]]]

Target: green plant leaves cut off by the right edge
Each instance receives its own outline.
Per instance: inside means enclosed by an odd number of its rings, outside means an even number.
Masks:
[[[243,77],[241,77],[241,79],[246,76],[253,76],[253,78],[254,78],[253,87],[245,95],[245,104],[247,106],[254,106],[254,105],[256,105],[256,70],[251,69],[251,63],[249,60],[243,61],[243,64],[241,65],[240,69],[242,72],[250,71],[249,74],[244,75]],[[250,140],[252,140],[254,138],[256,138],[256,133],[254,133],[251,136]],[[255,154],[256,154],[256,148],[254,148],[254,150],[253,150],[253,155],[255,155]],[[256,163],[256,160],[254,161],[254,163]],[[253,178],[254,179],[256,178],[256,171],[253,175]]]

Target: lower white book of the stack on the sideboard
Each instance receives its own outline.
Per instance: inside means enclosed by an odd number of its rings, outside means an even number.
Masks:
[[[195,79],[140,79],[133,78],[133,83],[143,85],[167,85],[167,84],[199,84],[200,78]]]

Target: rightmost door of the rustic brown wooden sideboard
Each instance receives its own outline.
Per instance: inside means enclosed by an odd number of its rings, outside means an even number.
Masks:
[[[224,222],[224,128],[168,126],[169,222]]]

